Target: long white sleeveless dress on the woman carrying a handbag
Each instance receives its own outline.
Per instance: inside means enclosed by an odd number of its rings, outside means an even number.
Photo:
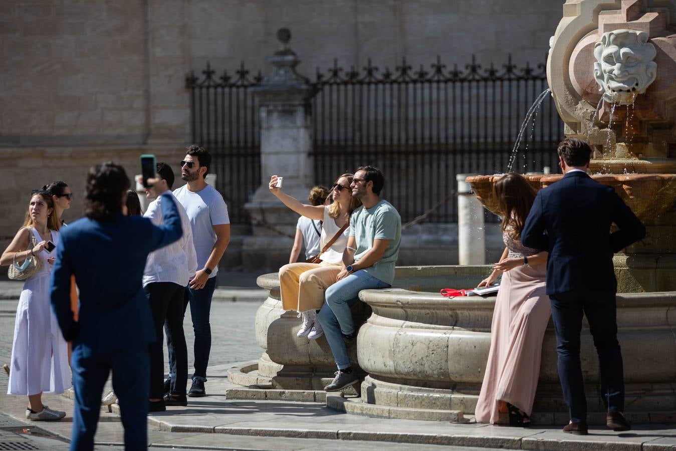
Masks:
[[[31,230],[38,242],[42,241],[37,231]],[[51,241],[58,247],[57,231],[51,231]],[[47,258],[55,255],[55,251],[45,250],[37,254],[42,260],[42,268],[26,280],[21,291],[16,308],[7,394],[63,393],[71,385],[68,345],[49,302],[51,264],[47,263]]]

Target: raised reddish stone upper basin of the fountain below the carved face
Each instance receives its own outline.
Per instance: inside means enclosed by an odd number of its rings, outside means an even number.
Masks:
[[[466,179],[481,204],[495,214],[498,214],[498,209],[493,199],[493,183],[500,177],[502,174],[470,176]],[[563,178],[561,174],[525,177],[537,190]],[[598,183],[613,187],[642,221],[652,220],[667,212],[676,200],[676,174],[598,174],[591,177]]]

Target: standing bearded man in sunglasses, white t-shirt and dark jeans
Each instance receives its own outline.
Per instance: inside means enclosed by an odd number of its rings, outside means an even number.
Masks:
[[[211,351],[211,311],[212,296],[216,288],[218,262],[230,242],[230,218],[228,207],[214,187],[207,185],[204,177],[211,167],[211,155],[198,145],[188,147],[187,154],[180,162],[180,178],[187,184],[174,191],[178,202],[185,208],[193,230],[193,243],[197,254],[197,272],[186,290],[184,306],[190,303],[190,314],[195,331],[195,373],[188,396],[206,396],[204,383],[207,380],[207,365]],[[169,365],[171,377],[176,374],[176,359],[170,341]],[[165,381],[165,387],[170,379]]]

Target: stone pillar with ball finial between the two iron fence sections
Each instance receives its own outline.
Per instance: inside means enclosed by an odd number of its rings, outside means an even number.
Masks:
[[[245,208],[251,215],[254,237],[245,239],[243,255],[252,268],[279,268],[289,261],[293,239],[270,227],[293,236],[298,215],[274,197],[269,189],[270,176],[284,177],[283,191],[299,201],[306,201],[314,181],[312,157],[312,121],[310,99],[314,90],[310,81],[296,73],[299,64],[289,48],[291,32],[281,28],[277,38],[281,49],[268,58],[274,69],[252,89],[260,111],[260,187]],[[270,236],[276,239],[270,239]],[[262,260],[261,260],[262,259]],[[248,263],[243,261],[248,268]]]

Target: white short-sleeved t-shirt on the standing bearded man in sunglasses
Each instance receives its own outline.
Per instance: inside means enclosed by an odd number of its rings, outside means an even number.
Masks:
[[[197,193],[190,191],[188,185],[183,185],[174,191],[174,195],[188,214],[193,229],[197,269],[202,269],[206,266],[216,243],[216,232],[213,226],[230,224],[228,206],[223,196],[211,185],[207,185]],[[218,265],[211,269],[209,279],[218,274]]]

